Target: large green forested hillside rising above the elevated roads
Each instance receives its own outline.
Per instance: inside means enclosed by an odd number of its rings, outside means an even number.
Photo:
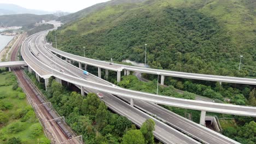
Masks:
[[[57,31],[60,49],[81,55],[85,46],[87,57],[143,62],[144,44],[148,44],[147,63],[152,68],[256,75],[253,0],[149,0],[98,5],[69,15],[69,20],[75,21]],[[54,33],[47,38],[54,41]],[[240,55],[243,59],[238,72]]]

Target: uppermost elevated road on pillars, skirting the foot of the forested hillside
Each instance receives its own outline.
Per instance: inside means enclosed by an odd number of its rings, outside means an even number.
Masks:
[[[217,81],[217,82],[228,82],[228,83],[241,83],[246,85],[256,85],[256,79],[247,79],[242,77],[230,77],[230,76],[218,76],[218,75],[205,75],[205,74],[193,74],[193,73],[183,73],[178,71],[170,71],[170,70],[160,70],[160,69],[150,69],[150,68],[141,68],[130,65],[123,64],[109,64],[109,62],[98,61],[96,59],[76,56],[71,53],[63,52],[57,49],[54,49],[51,45],[45,45],[47,49],[50,51],[68,59],[72,59],[73,61],[77,61],[79,63],[85,63],[89,65],[94,65],[98,68],[104,68],[114,71],[125,70],[125,73],[130,73],[129,71],[137,71],[146,74],[155,74],[161,75],[161,84],[164,85],[165,76],[172,77],[182,77],[185,79],[195,79],[195,80],[206,80],[206,81]]]

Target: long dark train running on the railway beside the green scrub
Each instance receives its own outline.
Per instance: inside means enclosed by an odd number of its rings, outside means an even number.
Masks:
[[[59,126],[59,128],[61,129],[62,133],[65,134],[65,136],[67,137],[67,139],[72,139],[72,134],[68,131],[68,129],[65,127],[65,124],[63,123],[62,119],[59,118],[59,116],[57,116],[57,114],[51,110],[51,108],[49,107],[49,105],[44,104],[45,100],[40,97],[40,94],[36,91],[36,89],[31,85],[30,81],[28,81],[27,77],[24,77],[25,80],[27,81],[28,85],[30,85],[30,87],[32,88],[33,92],[36,93],[37,95],[37,99],[40,101],[41,104],[43,104],[43,106],[45,107],[45,109],[49,112],[50,116],[54,119],[54,121],[56,122],[56,124]]]

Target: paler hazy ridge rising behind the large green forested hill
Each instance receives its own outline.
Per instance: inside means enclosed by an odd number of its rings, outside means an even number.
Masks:
[[[66,16],[61,16],[58,20],[64,23],[67,22],[72,22],[75,21],[81,17],[85,17],[86,15],[95,12],[97,10],[101,10],[103,8],[106,8],[108,6],[112,6],[112,5],[118,5],[118,4],[124,4],[124,3],[140,3],[140,2],[144,2],[146,0],[113,0],[113,1],[108,1],[108,2],[104,2],[104,3],[98,3],[95,5],[92,5],[89,8],[77,11],[77,13],[73,13],[73,14],[69,14]]]

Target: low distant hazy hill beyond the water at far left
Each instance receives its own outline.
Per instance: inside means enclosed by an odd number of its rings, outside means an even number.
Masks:
[[[33,15],[33,14],[18,14],[18,15],[1,15],[0,22],[4,26],[25,26],[31,23],[36,23],[42,20],[50,21],[56,20],[57,16],[54,15]]]

